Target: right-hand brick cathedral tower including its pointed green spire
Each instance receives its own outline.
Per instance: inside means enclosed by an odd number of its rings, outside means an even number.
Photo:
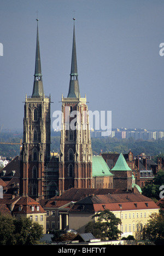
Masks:
[[[75,21],[75,18],[73,19]],[[92,149],[86,96],[81,98],[78,82],[75,25],[71,75],[67,98],[62,96],[62,127],[59,159],[59,192],[71,187],[92,187]]]

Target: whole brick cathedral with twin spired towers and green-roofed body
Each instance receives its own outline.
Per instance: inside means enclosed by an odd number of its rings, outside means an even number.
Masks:
[[[60,154],[50,157],[51,97],[45,96],[40,61],[37,19],[36,64],[32,95],[25,98],[24,138],[20,153],[20,191],[34,200],[61,195],[68,189],[113,189],[114,175],[102,156],[92,156],[86,95],[81,98],[75,43],[75,18],[71,73],[67,97],[61,99]],[[64,92],[65,93],[65,92]],[[122,158],[121,158],[121,161]],[[125,163],[124,163],[125,164]],[[128,172],[128,175],[125,175]],[[120,175],[121,172],[120,172]],[[118,183],[119,177],[115,179]],[[124,189],[132,189],[132,170],[124,169]],[[118,183],[119,184],[119,183]],[[120,183],[121,184],[121,183]],[[128,184],[128,187],[127,185]],[[119,187],[120,188],[120,187]]]

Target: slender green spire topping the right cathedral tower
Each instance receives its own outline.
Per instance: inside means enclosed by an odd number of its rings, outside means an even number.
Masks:
[[[73,18],[75,21],[75,18]],[[72,45],[72,61],[71,61],[71,74],[69,82],[69,92],[67,98],[79,98],[79,81],[78,81],[78,67],[77,67],[77,51],[75,42],[75,26],[73,27],[73,45]]]

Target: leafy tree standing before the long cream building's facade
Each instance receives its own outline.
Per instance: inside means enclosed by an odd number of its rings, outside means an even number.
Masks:
[[[97,217],[97,222],[89,223],[85,232],[92,232],[96,238],[108,237],[109,240],[117,240],[120,237],[121,231],[118,229],[118,225],[121,225],[121,220],[116,218],[112,212],[106,209],[93,215],[92,218],[95,217]]]

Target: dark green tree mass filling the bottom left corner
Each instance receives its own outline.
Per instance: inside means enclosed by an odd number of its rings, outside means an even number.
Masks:
[[[32,245],[43,236],[43,227],[30,218],[0,215],[0,245]]]

